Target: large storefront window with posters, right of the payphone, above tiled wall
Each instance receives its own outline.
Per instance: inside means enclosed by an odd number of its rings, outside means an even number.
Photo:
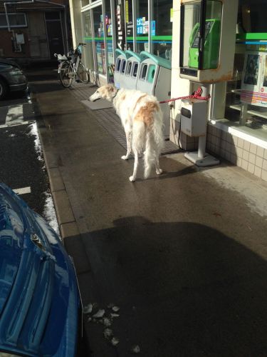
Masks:
[[[234,76],[227,82],[225,118],[267,140],[266,1],[240,1]]]

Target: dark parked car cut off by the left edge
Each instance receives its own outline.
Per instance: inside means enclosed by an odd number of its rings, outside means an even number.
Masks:
[[[19,64],[9,59],[0,59],[0,100],[9,91],[25,91],[28,81]]]

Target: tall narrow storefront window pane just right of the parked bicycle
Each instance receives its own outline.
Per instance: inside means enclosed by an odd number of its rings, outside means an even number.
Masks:
[[[93,42],[95,43],[96,59],[98,63],[98,73],[106,74],[104,19],[103,19],[102,6],[97,6],[93,8],[93,24],[94,24],[94,32],[95,32]]]

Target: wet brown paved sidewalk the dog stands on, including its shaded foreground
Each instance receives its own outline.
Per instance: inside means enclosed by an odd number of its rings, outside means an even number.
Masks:
[[[40,77],[31,89],[83,304],[109,318],[120,308],[117,340],[85,315],[92,356],[266,356],[266,183],[227,162],[199,169],[182,151],[131,183],[133,160],[99,124],[113,109],[81,102],[95,88]]]

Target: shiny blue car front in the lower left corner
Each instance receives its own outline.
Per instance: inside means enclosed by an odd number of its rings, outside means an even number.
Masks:
[[[0,355],[75,356],[81,311],[55,231],[0,183]]]

